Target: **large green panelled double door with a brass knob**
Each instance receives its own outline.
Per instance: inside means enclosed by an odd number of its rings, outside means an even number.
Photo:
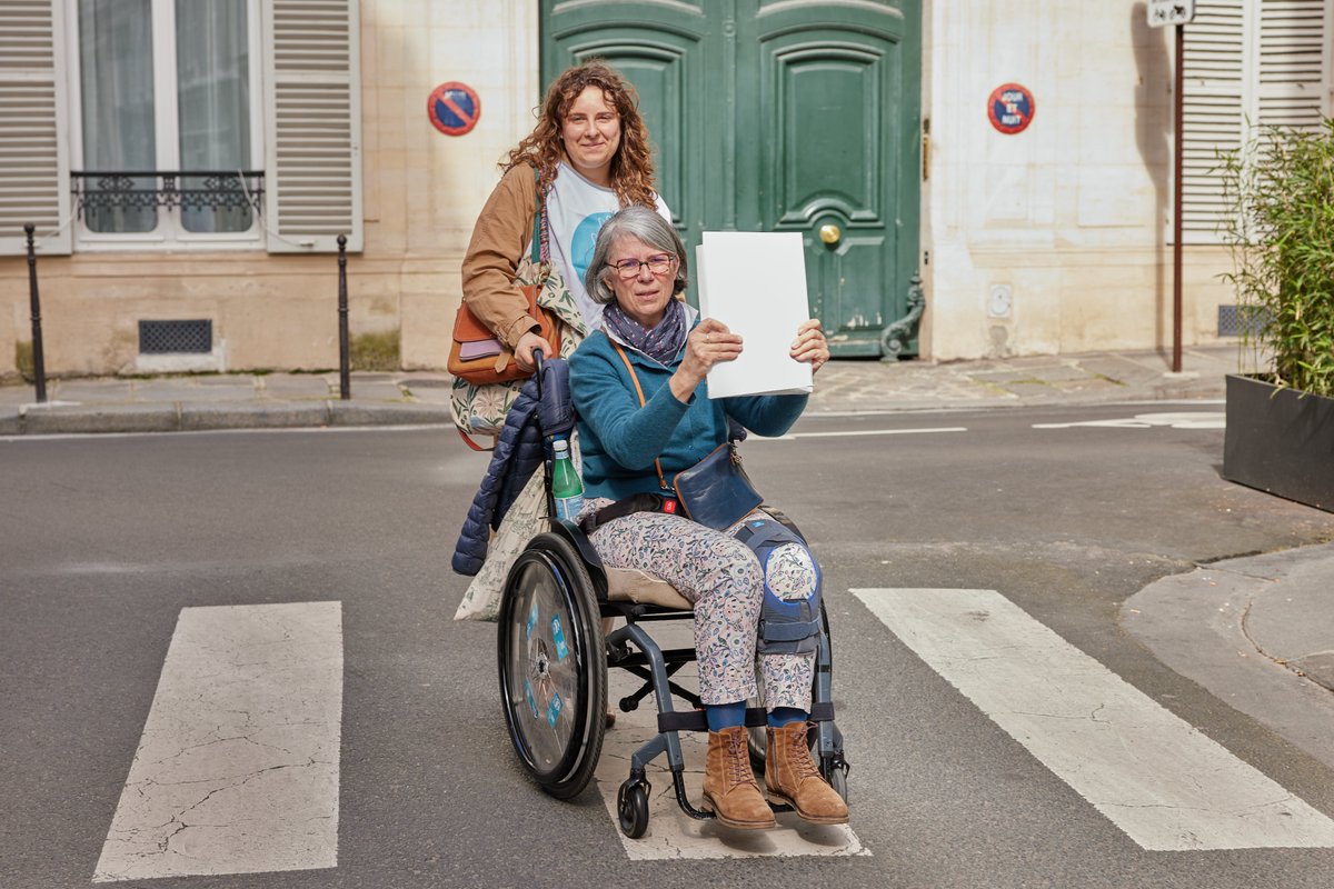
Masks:
[[[920,0],[542,9],[544,83],[603,56],[639,89],[687,247],[706,229],[800,232],[834,353],[882,355],[916,273]]]

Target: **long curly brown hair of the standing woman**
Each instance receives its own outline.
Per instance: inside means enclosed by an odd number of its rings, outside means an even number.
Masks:
[[[619,71],[602,59],[588,59],[567,68],[547,89],[547,97],[538,115],[538,125],[500,161],[504,172],[519,164],[538,169],[538,188],[546,192],[556,177],[556,164],[564,156],[560,128],[570,107],[588,87],[598,87],[620,116],[620,147],[611,159],[611,187],[622,207],[643,204],[655,207],[654,157],[648,144],[648,129],[639,116],[639,93]]]

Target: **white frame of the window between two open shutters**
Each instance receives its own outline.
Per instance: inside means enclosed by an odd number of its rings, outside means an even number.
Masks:
[[[68,147],[71,169],[83,171],[81,55],[79,52],[79,0],[63,0],[65,12],[65,88],[68,107]],[[176,83],[176,3],[151,0],[153,40],[153,120],[156,127],[157,169],[180,169],[180,133]],[[264,165],[264,40],[260,0],[245,1],[245,29],[249,40],[251,169]],[[268,184],[265,183],[265,188]],[[77,213],[77,201],[71,208]],[[117,251],[255,251],[264,249],[264,201],[252,209],[251,227],[244,232],[189,232],[181,224],[179,208],[157,208],[152,232],[93,232],[80,217],[75,220],[73,249],[77,252]]]

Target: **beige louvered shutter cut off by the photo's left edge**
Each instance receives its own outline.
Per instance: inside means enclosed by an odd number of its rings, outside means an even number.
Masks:
[[[0,256],[68,253],[63,3],[0,4]]]

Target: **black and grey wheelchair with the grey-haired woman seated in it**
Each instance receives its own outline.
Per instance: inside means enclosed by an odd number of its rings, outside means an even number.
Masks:
[[[547,436],[543,441],[547,514],[555,516],[551,448]],[[768,506],[762,509],[802,537],[787,516]],[[620,618],[624,625],[604,634],[604,618]],[[550,530],[528,542],[506,578],[496,658],[510,740],[523,769],[542,790],[570,800],[592,780],[607,729],[607,672],[615,668],[642,680],[638,690],[618,701],[622,712],[638,709],[650,694],[658,706],[658,733],[635,750],[630,777],[616,794],[620,830],[630,838],[648,830],[647,766],[663,753],[680,809],[691,818],[714,817],[687,798],[679,737],[680,732],[708,730],[703,704],[672,678],[695,661],[695,650],[664,650],[646,630],[658,621],[692,620],[690,601],[667,582],[640,570],[606,568],[572,522],[551,518]],[[834,721],[831,684],[832,650],[822,601],[808,742],[820,774],[846,801],[850,766]],[[759,688],[763,694],[763,684]],[[688,709],[676,709],[674,698]],[[756,776],[763,781],[767,713],[762,700],[755,704],[746,710],[746,725]],[[775,812],[791,810],[770,805]]]

